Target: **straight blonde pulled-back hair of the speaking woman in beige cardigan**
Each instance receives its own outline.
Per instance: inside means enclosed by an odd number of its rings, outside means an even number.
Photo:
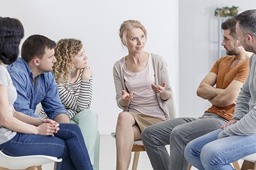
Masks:
[[[144,32],[145,39],[147,40],[147,30],[145,27],[140,23],[140,21],[136,20],[127,20],[124,21],[119,29],[119,36],[122,40],[123,45],[127,45],[127,36],[129,34],[129,31],[134,29],[134,28],[140,28]]]

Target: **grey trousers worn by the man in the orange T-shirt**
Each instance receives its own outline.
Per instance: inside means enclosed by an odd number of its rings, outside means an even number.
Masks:
[[[188,170],[184,149],[189,141],[228,122],[217,114],[205,113],[199,118],[180,117],[148,126],[142,132],[142,141],[155,170]],[[170,155],[165,148],[170,145]]]

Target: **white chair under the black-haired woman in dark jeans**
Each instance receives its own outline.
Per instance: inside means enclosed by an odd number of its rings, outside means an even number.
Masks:
[[[33,169],[42,170],[42,164],[61,162],[61,158],[46,155],[29,155],[23,157],[10,157],[0,150],[0,170],[2,169]]]

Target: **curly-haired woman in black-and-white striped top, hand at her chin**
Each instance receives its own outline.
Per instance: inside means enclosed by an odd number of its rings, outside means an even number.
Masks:
[[[60,100],[70,113],[70,123],[80,126],[93,169],[99,169],[98,116],[90,109],[92,71],[82,42],[61,39],[55,48],[53,72]]]

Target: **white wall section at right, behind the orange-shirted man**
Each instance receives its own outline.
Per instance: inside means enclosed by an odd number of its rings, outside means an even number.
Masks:
[[[255,8],[254,0],[179,0],[179,114],[201,116],[210,104],[196,95],[196,89],[218,59],[217,7]]]

